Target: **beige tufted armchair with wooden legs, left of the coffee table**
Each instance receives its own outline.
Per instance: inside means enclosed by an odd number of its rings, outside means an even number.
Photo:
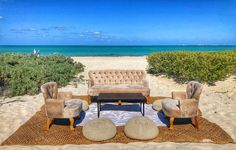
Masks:
[[[74,117],[79,117],[82,110],[82,102],[72,99],[71,92],[58,92],[56,82],[48,82],[41,86],[45,101],[46,130],[49,129],[54,118],[68,118],[70,128],[74,129]]]

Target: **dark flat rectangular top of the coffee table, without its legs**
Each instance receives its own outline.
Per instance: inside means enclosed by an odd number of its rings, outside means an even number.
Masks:
[[[146,97],[142,93],[100,93],[97,98],[98,101],[106,100],[139,100],[145,101]]]

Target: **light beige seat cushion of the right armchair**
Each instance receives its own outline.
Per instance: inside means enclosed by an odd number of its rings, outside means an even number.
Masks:
[[[181,111],[179,108],[179,101],[166,98],[162,100],[162,111],[168,117],[178,118],[181,116]]]

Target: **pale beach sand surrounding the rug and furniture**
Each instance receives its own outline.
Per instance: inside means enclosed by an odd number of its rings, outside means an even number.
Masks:
[[[81,75],[88,79],[88,71],[93,69],[147,69],[146,57],[73,57],[86,68]],[[147,74],[152,96],[170,96],[171,91],[185,90],[186,84],[178,84],[164,76]],[[87,84],[81,82],[59,89],[72,91],[73,94],[86,95]],[[0,142],[13,134],[22,124],[33,116],[43,105],[42,94],[0,98]],[[219,81],[215,86],[204,85],[200,99],[203,117],[218,124],[236,141],[236,77],[231,76]],[[236,149],[236,144],[211,143],[108,143],[102,145],[64,145],[64,146],[2,146],[0,149]]]

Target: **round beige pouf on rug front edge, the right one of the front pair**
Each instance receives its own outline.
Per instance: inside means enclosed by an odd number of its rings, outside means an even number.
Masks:
[[[150,140],[157,137],[159,130],[149,118],[137,116],[126,122],[124,132],[131,139]]]

